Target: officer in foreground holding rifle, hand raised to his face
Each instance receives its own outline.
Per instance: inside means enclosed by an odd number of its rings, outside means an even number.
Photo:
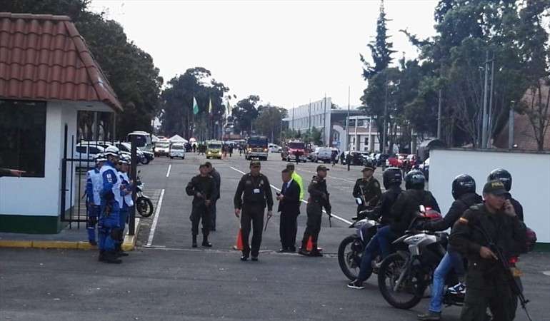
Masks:
[[[486,320],[487,307],[493,320],[514,320],[514,296],[494,247],[506,260],[523,253],[526,227],[507,194],[500,180],[489,180],[483,188],[484,203],[471,206],[454,224],[450,245],[468,258],[462,321]]]

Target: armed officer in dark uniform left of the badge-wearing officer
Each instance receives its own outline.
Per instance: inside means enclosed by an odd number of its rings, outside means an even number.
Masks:
[[[212,244],[208,241],[210,233],[210,225],[212,219],[210,217],[210,205],[216,200],[218,190],[216,190],[216,182],[209,175],[209,167],[206,164],[199,166],[200,174],[191,178],[187,184],[185,192],[193,198],[193,208],[191,210],[191,232],[193,233],[193,248],[196,248],[196,235],[199,234],[199,223],[202,220],[202,246],[211,248]]]

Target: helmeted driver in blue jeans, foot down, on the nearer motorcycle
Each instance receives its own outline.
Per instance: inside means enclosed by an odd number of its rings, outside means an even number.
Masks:
[[[422,225],[422,229],[438,231],[451,228],[456,220],[458,220],[470,206],[483,202],[481,196],[476,194],[476,181],[470,175],[462,174],[454,178],[452,183],[452,194],[455,200],[451,208],[449,208],[449,212],[445,215],[445,218],[435,222],[426,222]],[[464,294],[466,288],[461,282],[464,278],[464,261],[462,260],[462,256],[449,245],[447,247],[447,253],[443,259],[441,259],[441,262],[434,272],[434,284],[431,286],[429,310],[422,315],[418,315],[419,320],[441,320],[441,307],[445,294],[445,279],[449,272],[451,272],[451,269],[454,269],[460,282],[454,287],[451,287],[449,291]]]

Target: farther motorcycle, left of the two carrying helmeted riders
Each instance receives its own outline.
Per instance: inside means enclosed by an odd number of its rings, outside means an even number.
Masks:
[[[356,203],[357,205],[361,205],[361,198],[356,198]],[[355,228],[356,232],[344,238],[338,247],[338,264],[344,275],[351,281],[356,280],[357,275],[359,275],[361,257],[363,256],[365,247],[376,234],[380,225],[378,220],[361,219],[368,212],[369,210],[359,212],[359,216],[354,218],[354,223],[349,225],[349,228]],[[379,257],[374,258],[373,266],[379,260]],[[376,270],[374,272],[376,273]]]

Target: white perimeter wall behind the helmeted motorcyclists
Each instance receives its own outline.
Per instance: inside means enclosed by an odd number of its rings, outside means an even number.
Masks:
[[[523,206],[526,225],[536,232],[537,242],[550,243],[550,153],[432,150],[429,190],[446,213],[453,202],[451,183],[456,175],[471,175],[481,195],[487,176],[495,168],[511,173],[510,193]]]

